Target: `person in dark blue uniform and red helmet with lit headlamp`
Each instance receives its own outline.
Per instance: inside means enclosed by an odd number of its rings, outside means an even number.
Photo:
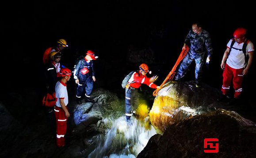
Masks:
[[[93,51],[87,51],[85,57],[80,59],[74,66],[73,75],[77,84],[76,102],[79,105],[82,104],[81,97],[83,94],[84,102],[94,103],[94,100],[90,99],[93,89],[93,82],[96,81],[92,60],[96,60],[97,58],[98,56],[96,56]]]

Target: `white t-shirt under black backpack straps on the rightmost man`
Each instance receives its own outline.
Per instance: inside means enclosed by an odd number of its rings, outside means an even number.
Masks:
[[[229,40],[229,43],[227,44],[227,47],[230,48],[232,39]],[[231,52],[229,54],[229,57],[227,59],[227,64],[232,67],[233,69],[241,69],[241,68],[245,68],[245,55],[244,52],[242,51],[244,42],[241,44],[238,44],[237,42],[234,43],[233,48],[231,49]],[[240,50],[236,50],[234,48],[237,49],[241,49]],[[246,55],[248,55],[248,53],[254,51],[254,46],[252,44],[251,41],[249,41],[249,43],[246,46]]]

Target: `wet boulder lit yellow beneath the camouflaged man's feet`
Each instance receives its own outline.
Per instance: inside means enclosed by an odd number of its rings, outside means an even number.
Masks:
[[[162,133],[176,121],[214,110],[210,105],[218,95],[217,89],[206,84],[196,88],[195,81],[169,81],[157,93],[149,112],[150,121]]]

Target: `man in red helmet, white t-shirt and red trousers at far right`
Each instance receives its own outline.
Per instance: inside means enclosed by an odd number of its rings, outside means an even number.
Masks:
[[[248,73],[249,68],[252,65],[254,45],[250,40],[246,39],[245,34],[245,28],[237,28],[234,31],[234,38],[229,40],[222,58],[221,68],[224,70],[222,74],[222,95],[218,98],[218,101],[227,99],[230,83],[232,81],[234,98],[229,100],[230,105],[237,103],[237,99],[241,96],[244,75]],[[246,47],[244,48],[243,46]],[[248,62],[246,59],[247,56]]]

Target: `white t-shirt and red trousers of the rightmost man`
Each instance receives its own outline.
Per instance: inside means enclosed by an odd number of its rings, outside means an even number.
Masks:
[[[230,48],[231,43],[233,39],[229,40],[229,43],[227,44],[227,48]],[[237,43],[235,42],[233,47],[231,48],[231,51],[229,53],[229,56],[226,60],[225,69],[223,71],[223,85],[221,88],[222,94],[226,95],[229,92],[230,89],[230,83],[233,78],[233,88],[234,88],[234,98],[238,98],[241,95],[241,92],[243,90],[242,88],[242,82],[243,82],[243,70],[246,67],[245,62],[245,55],[242,51],[244,42]],[[251,41],[248,42],[246,46],[246,55],[248,53],[254,51],[254,46]]]

